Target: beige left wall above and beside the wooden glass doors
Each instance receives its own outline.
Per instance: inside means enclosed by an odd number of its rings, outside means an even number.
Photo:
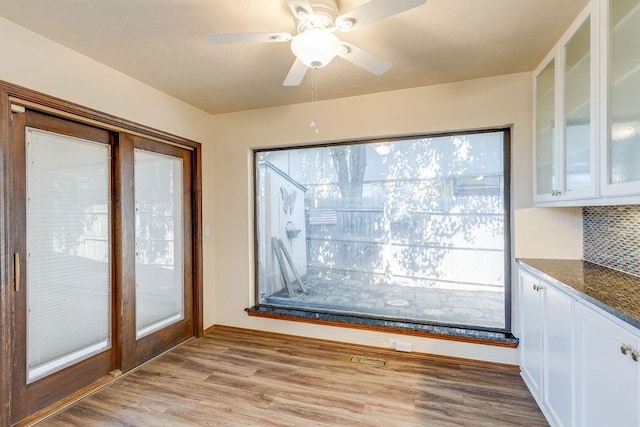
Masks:
[[[0,80],[203,144],[203,221],[213,224],[211,116],[0,17]],[[213,238],[205,237],[205,323],[213,322]]]

